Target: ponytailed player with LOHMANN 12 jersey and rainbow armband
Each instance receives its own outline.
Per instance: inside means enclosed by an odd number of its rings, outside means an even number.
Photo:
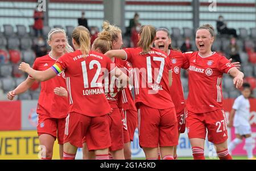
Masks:
[[[40,81],[65,72],[70,105],[65,123],[63,159],[75,159],[77,147],[82,147],[84,136],[88,150],[95,152],[96,160],[109,159],[111,139],[107,114],[111,108],[102,88],[102,79],[106,72],[115,72],[115,67],[109,58],[90,51],[87,28],[76,27],[72,42],[76,51],[64,54],[50,69],[36,71],[24,62],[19,69]]]

